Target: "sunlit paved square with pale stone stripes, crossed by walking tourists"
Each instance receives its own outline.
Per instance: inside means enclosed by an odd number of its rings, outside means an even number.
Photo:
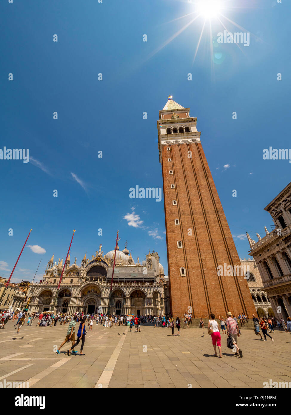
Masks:
[[[262,342],[253,330],[242,329],[242,358],[227,349],[227,336],[221,334],[219,359],[207,330],[204,337],[203,330],[192,328],[172,337],[171,329],[149,325],[140,333],[93,325],[85,356],[67,356],[69,343],[56,354],[67,328],[34,322],[15,334],[10,320],[0,330],[0,381],[28,381],[30,388],[262,388],[269,379],[291,382],[291,334],[279,330],[274,342]]]

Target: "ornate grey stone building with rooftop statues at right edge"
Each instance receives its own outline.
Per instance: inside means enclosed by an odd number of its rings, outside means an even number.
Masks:
[[[262,276],[264,291],[277,318],[291,316],[291,183],[264,210],[270,213],[274,225],[258,241],[249,237],[249,254],[256,261]]]

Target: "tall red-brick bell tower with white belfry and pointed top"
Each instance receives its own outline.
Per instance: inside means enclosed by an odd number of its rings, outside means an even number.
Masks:
[[[171,312],[193,318],[256,310],[190,108],[168,97],[157,122],[162,165]],[[223,267],[218,268],[219,266]],[[227,268],[228,266],[228,268]],[[233,268],[232,268],[233,269]],[[237,268],[236,268],[237,270]],[[220,275],[218,276],[218,273]]]

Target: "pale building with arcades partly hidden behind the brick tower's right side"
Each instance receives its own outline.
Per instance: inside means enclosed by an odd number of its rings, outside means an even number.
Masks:
[[[274,316],[274,312],[267,296],[264,291],[264,285],[261,274],[259,273],[257,264],[253,259],[240,259],[242,266],[246,267],[247,272],[247,285],[254,301],[254,306],[259,317],[267,315]],[[251,316],[248,316],[251,318]]]

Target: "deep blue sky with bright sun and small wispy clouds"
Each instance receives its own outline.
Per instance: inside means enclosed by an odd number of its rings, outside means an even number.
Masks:
[[[213,19],[194,62],[205,18],[181,31],[195,16],[175,20],[195,9],[186,1],[1,2],[0,148],[29,149],[30,161],[0,160],[0,276],[10,275],[30,228],[27,245],[46,252],[25,247],[15,282],[32,279],[41,258],[36,281],[53,253],[65,258],[73,229],[78,264],[100,243],[112,250],[119,229],[120,249],[128,240],[135,261],[154,249],[167,273],[163,200],[133,200],[129,189],[162,188],[157,119],[169,94],[198,117],[239,256],[249,249],[246,230],[255,240],[264,225],[271,230],[263,208],[290,182],[291,164],[262,152],[291,147],[291,3],[221,2],[221,22],[245,28],[250,44],[218,45],[224,28]]]

